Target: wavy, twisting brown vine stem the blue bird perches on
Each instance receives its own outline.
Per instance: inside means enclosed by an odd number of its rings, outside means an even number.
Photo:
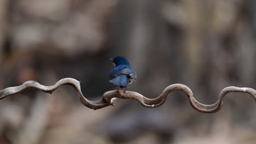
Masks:
[[[43,92],[46,93],[53,93],[55,89],[62,85],[71,85],[73,86],[78,93],[79,99],[81,103],[90,109],[102,109],[103,107],[113,105],[114,101],[116,98],[121,98],[121,99],[134,99],[137,100],[139,103],[141,103],[145,107],[158,107],[161,106],[162,104],[165,103],[165,100],[172,91],[183,91],[185,94],[187,94],[189,103],[193,109],[203,112],[203,113],[214,113],[219,111],[222,108],[223,105],[223,98],[225,97],[226,94],[230,92],[242,92],[242,93],[248,93],[251,94],[254,100],[256,101],[256,91],[253,88],[247,88],[247,87],[226,87],[222,89],[219,93],[219,98],[216,103],[212,105],[205,105],[201,104],[199,101],[197,101],[194,96],[193,92],[191,89],[185,85],[182,84],[173,84],[164,89],[164,91],[159,95],[159,97],[154,98],[154,99],[149,99],[147,97],[144,97],[143,95],[136,93],[136,92],[131,92],[131,91],[126,91],[125,93],[123,91],[108,91],[103,94],[103,98],[100,101],[90,101],[86,99],[80,89],[80,82],[72,79],[72,78],[65,78],[59,80],[55,85],[53,86],[43,86],[40,85],[37,81],[26,81],[24,82],[21,86],[16,86],[16,87],[8,87],[0,91],[0,99],[4,99],[8,97],[9,95],[13,95],[16,93],[21,93],[24,91],[24,89],[33,87],[40,89]]]

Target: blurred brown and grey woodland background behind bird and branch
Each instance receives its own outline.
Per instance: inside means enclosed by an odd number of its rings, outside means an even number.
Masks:
[[[203,104],[226,86],[256,87],[256,1],[0,0],[0,89],[72,77],[100,100],[113,68],[129,58],[131,91],[157,97],[172,83]],[[71,86],[53,94],[28,89],[0,101],[0,143],[255,143],[256,105],[230,93],[205,114],[173,92],[155,109],[135,100],[91,110]]]

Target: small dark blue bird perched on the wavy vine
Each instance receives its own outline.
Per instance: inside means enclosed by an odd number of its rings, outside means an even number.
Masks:
[[[117,56],[109,59],[115,66],[108,74],[109,81],[114,85],[119,85],[120,88],[130,88],[131,83],[137,79],[137,75],[127,58]]]

